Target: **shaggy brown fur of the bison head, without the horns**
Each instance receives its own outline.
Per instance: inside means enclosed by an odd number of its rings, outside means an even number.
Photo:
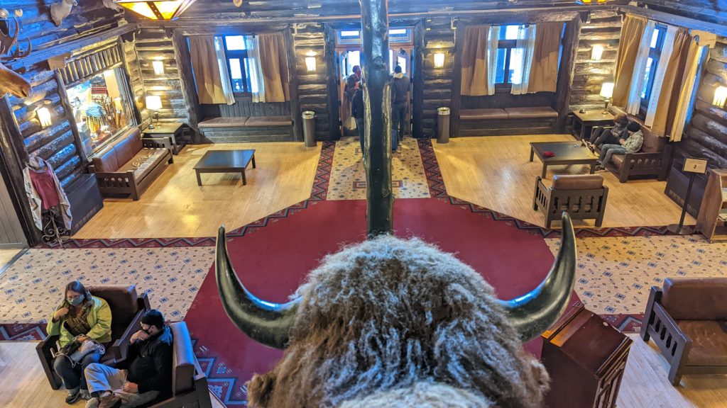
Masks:
[[[497,407],[539,407],[547,373],[492,287],[420,240],[379,237],[324,258],[297,290],[289,348],[248,385],[254,407],[337,407],[443,383]]]

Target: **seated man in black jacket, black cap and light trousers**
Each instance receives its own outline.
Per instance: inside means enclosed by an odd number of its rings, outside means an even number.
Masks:
[[[90,364],[86,380],[94,398],[86,408],[138,407],[172,393],[172,330],[161,311],[150,309],[129,340],[128,370]]]

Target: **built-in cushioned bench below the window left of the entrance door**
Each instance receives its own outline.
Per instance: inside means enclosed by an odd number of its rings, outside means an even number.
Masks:
[[[209,118],[199,123],[199,131],[212,143],[293,141],[290,116]]]

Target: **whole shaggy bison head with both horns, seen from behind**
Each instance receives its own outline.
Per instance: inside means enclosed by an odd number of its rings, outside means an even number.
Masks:
[[[550,273],[512,301],[498,300],[481,274],[451,254],[391,236],[326,256],[284,304],[241,284],[224,227],[215,268],[233,323],[285,348],[272,371],[248,383],[251,407],[418,407],[441,399],[450,402],[442,407],[540,407],[547,372],[521,342],[568,306],[576,247],[564,215]]]

